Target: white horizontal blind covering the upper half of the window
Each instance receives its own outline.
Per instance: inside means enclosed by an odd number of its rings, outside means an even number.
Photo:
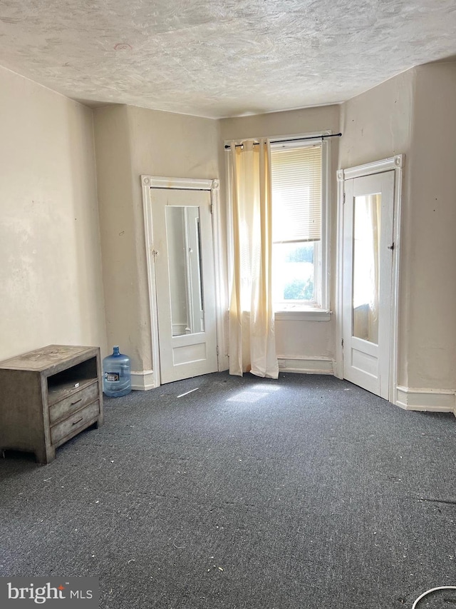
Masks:
[[[321,240],[321,144],[271,149],[272,241]]]

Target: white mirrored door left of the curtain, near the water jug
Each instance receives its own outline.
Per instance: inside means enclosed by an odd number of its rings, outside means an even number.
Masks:
[[[161,383],[216,372],[209,191],[151,188]]]

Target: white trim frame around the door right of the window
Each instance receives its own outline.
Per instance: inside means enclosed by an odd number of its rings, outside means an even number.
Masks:
[[[345,198],[345,181],[352,178],[371,176],[374,173],[394,171],[393,201],[393,268],[391,275],[391,320],[390,320],[390,378],[389,401],[396,403],[396,385],[398,377],[398,302],[399,302],[399,268],[400,268],[400,221],[401,195],[403,184],[404,154],[396,154],[380,161],[366,163],[337,171],[337,254],[336,254],[336,366],[335,376],[343,378],[343,203]]]

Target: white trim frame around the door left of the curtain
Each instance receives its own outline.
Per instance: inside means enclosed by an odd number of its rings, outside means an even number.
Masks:
[[[158,342],[158,313],[157,288],[155,284],[155,265],[152,241],[152,206],[150,204],[150,191],[153,188],[177,188],[178,190],[209,191],[211,195],[212,211],[212,238],[214,240],[214,271],[215,271],[215,298],[216,298],[216,331],[217,331],[217,367],[218,370],[227,368],[227,359],[224,341],[223,311],[226,300],[224,284],[222,282],[223,267],[221,256],[221,235],[219,221],[219,180],[199,178],[165,178],[163,176],[141,176],[142,211],[144,214],[145,255],[147,261],[147,283],[149,288],[150,329],[152,334],[152,368],[153,387],[160,387],[160,349]]]

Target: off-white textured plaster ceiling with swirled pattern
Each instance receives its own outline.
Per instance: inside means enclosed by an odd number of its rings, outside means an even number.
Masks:
[[[344,101],[455,54],[455,0],[0,1],[0,65],[214,118]]]

